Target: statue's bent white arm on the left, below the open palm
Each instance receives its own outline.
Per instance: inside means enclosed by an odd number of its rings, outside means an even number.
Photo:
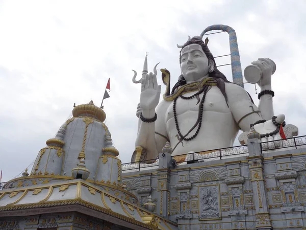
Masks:
[[[147,159],[155,159],[169,140],[165,116],[170,102],[162,101],[156,109],[157,120],[152,123],[146,123],[139,118],[139,130],[135,146],[141,146],[146,151]],[[142,111],[143,116],[152,118],[155,116],[154,110]]]

